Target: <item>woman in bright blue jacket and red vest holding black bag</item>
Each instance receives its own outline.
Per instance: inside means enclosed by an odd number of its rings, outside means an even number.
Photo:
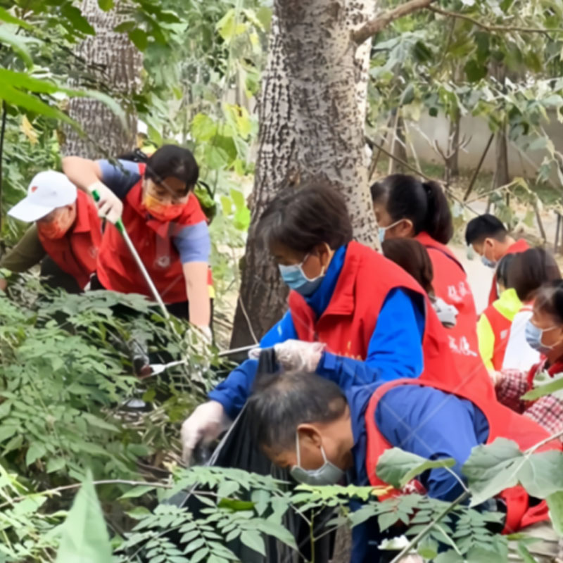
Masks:
[[[424,377],[426,370],[459,382],[445,329],[424,289],[398,265],[352,241],[343,198],[328,186],[287,187],[257,227],[292,290],[289,311],[267,332],[285,369],[303,368],[342,388],[374,378]],[[209,393],[182,426],[184,458],[236,417],[257,368],[247,360]],[[424,370],[424,371],[423,371]],[[488,374],[483,393],[494,395]]]

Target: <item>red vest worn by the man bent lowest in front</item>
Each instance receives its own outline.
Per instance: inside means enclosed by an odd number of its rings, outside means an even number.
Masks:
[[[379,461],[379,456],[391,448],[391,444],[386,441],[375,424],[375,411],[381,397],[390,389],[400,385],[427,385],[445,391],[445,393],[452,393],[461,398],[471,400],[487,418],[489,435],[486,443],[492,443],[495,441],[495,438],[499,437],[508,438],[514,440],[521,450],[526,450],[549,436],[548,432],[539,424],[536,424],[536,422],[519,415],[517,412],[486,396],[475,394],[467,396],[446,383],[429,384],[413,379],[390,381],[388,384],[377,388],[377,391],[369,400],[365,413],[367,432],[366,469],[369,483],[374,487],[387,485],[377,476],[377,462]],[[562,449],[562,443],[559,440],[555,440],[543,445],[538,451]],[[393,490],[393,492],[389,493],[389,496],[398,494],[400,494],[400,491]],[[530,507],[529,495],[521,486],[505,489],[499,496],[505,500],[507,505],[507,516],[503,533],[514,533],[525,526],[548,519],[547,502],[542,500],[538,505]]]

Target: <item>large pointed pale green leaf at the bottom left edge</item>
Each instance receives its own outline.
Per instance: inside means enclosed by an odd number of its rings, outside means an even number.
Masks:
[[[111,559],[106,522],[88,471],[63,523],[56,563],[108,563]]]

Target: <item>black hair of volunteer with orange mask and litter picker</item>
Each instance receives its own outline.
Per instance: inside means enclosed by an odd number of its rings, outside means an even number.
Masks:
[[[157,184],[166,178],[177,178],[184,182],[184,195],[194,189],[198,181],[199,168],[194,155],[182,146],[164,145],[146,161],[145,177]]]

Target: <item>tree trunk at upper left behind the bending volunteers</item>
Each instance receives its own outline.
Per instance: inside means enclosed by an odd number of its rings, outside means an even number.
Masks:
[[[140,86],[143,59],[127,34],[113,31],[124,20],[124,16],[118,13],[119,8],[116,5],[104,12],[97,0],[82,0],[82,13],[96,30],[96,35],[78,44],[75,53],[91,65],[97,83],[94,87],[109,90],[115,98],[130,100]],[[72,85],[81,86],[80,82]],[[120,120],[105,104],[94,99],[72,98],[69,114],[80,123],[89,139],[66,127],[62,147],[64,154],[101,158],[118,156],[136,146],[137,115],[132,106],[127,108],[128,131],[123,129]]]

